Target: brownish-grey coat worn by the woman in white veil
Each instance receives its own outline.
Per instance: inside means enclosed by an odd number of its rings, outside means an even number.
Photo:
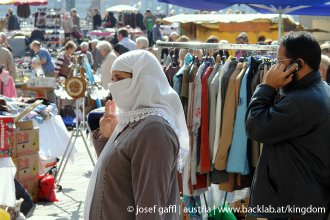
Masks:
[[[99,129],[93,133],[97,156],[107,142],[95,139],[99,133]],[[182,219],[178,152],[179,139],[162,117],[152,115],[129,123],[100,164],[89,219]],[[161,214],[170,205],[176,209]],[[143,212],[136,214],[136,207]]]

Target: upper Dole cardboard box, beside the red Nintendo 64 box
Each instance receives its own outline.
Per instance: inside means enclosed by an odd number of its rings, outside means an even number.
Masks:
[[[14,132],[13,156],[39,151],[39,127]]]

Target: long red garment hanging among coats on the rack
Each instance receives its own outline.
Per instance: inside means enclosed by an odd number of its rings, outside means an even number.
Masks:
[[[209,142],[208,142],[208,95],[207,78],[213,67],[208,67],[201,78],[201,122],[200,122],[200,171],[210,171]]]

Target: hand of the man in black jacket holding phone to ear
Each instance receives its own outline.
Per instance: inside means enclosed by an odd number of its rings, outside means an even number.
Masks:
[[[285,65],[277,63],[270,67],[264,79],[264,84],[270,85],[271,87],[277,89],[287,85],[292,81],[294,69],[298,67],[297,63],[294,63],[289,69],[285,70]]]

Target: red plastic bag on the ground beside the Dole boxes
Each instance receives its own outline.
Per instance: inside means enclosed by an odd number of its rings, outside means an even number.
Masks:
[[[49,174],[39,175],[38,179],[38,200],[58,201],[54,191],[56,188],[54,185],[54,176]]]

